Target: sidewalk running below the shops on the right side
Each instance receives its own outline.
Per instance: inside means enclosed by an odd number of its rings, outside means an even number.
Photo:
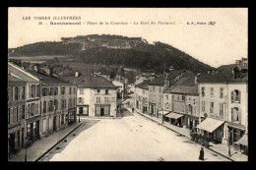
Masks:
[[[128,108],[126,107],[127,110],[129,110],[132,113],[132,108]],[[174,125],[171,125],[167,122],[161,122],[161,118],[156,118],[156,117],[152,117],[150,115],[147,114],[143,114],[138,110],[134,110],[136,113],[158,123],[159,125],[166,127],[167,129],[181,135],[184,136],[188,139],[190,139],[190,132],[188,129],[185,128],[180,128],[180,127],[176,127]],[[235,150],[233,147],[230,148],[230,152],[231,152],[231,156],[228,155],[228,147],[226,144],[214,144],[214,143],[210,143],[211,146],[208,148],[216,153],[219,153],[221,155],[223,155],[225,158],[230,159],[232,161],[248,161],[248,156],[245,154],[242,154],[240,151]]]

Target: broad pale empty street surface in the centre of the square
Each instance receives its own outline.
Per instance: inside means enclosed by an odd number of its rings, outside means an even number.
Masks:
[[[129,111],[101,119],[49,161],[201,161],[201,145]],[[205,149],[205,161],[229,161]]]

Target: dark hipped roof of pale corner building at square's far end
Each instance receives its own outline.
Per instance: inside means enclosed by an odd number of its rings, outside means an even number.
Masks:
[[[84,87],[93,88],[116,88],[110,81],[107,81],[101,76],[82,75],[73,79],[73,83]]]

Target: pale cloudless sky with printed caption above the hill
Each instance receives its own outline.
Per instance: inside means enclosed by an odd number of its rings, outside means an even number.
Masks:
[[[37,17],[37,20],[34,17]],[[50,20],[42,20],[42,17]],[[76,17],[80,20],[53,20],[53,17]],[[42,25],[38,25],[39,22],[42,22]],[[81,22],[81,25],[56,26],[50,25],[50,22]],[[88,22],[97,25],[90,25]],[[99,25],[99,22],[103,25]],[[109,25],[105,25],[105,22]],[[111,25],[111,22],[124,22],[128,25]],[[141,25],[141,22],[144,25]],[[155,25],[152,22],[155,22]],[[192,22],[205,25],[191,25]],[[149,43],[160,41],[184,51],[203,63],[219,67],[234,64],[235,60],[247,57],[248,10],[247,8],[9,8],[9,48],[39,41],[60,41],[61,37],[87,34],[142,37]]]

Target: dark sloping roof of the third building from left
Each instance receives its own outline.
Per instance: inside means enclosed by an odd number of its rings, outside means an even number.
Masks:
[[[42,85],[70,85],[68,82],[55,77],[55,76],[50,76],[41,72],[35,72],[35,71],[28,71],[30,74],[32,74],[34,77],[40,80],[40,84]]]

